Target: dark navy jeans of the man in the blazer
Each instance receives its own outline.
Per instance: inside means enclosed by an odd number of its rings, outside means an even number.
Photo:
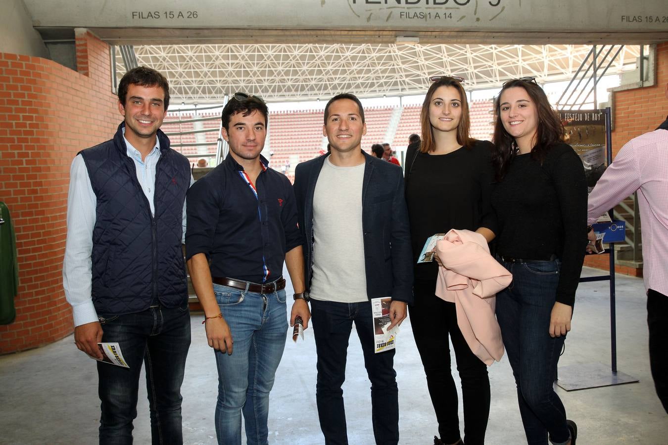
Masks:
[[[311,320],[318,355],[315,398],[320,428],[326,445],[348,443],[343,408],[345,361],[353,328],[364,353],[364,366],[371,380],[371,421],[376,444],[399,442],[399,398],[394,350],[375,354],[371,302],[335,303],[311,300]]]

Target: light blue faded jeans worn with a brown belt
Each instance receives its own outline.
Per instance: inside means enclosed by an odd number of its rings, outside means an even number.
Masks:
[[[213,290],[234,342],[229,356],[215,351],[218,443],[241,444],[243,412],[246,443],[265,445],[269,435],[269,392],[287,338],[285,290],[256,294],[218,284],[213,285]]]

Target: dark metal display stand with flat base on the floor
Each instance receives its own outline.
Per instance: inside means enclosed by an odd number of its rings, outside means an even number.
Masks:
[[[613,161],[613,145],[611,131],[611,109],[603,110],[605,115],[606,156],[607,165]],[[610,210],[613,218],[613,210]],[[588,388],[601,388],[602,386],[621,385],[625,383],[637,383],[635,377],[624,374],[617,370],[617,322],[615,311],[615,243],[609,244],[610,270],[608,275],[580,278],[580,283],[598,282],[609,280],[610,282],[610,346],[611,346],[611,369],[602,363],[574,364],[558,368],[556,384],[566,391],[586,390]]]

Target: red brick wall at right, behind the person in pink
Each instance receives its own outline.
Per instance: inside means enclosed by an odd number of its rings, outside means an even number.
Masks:
[[[657,79],[652,87],[616,91],[613,103],[613,157],[629,140],[659,126],[668,115],[668,98],[665,87],[668,83],[668,42],[657,45]],[[610,260],[607,254],[590,255],[585,266],[607,270]],[[642,269],[615,265],[615,271],[632,276],[643,276]]]

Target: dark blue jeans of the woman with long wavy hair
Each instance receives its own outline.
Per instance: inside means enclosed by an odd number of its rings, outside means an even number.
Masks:
[[[560,262],[501,262],[512,283],[496,295],[496,318],[517,384],[528,445],[568,442],[566,410],[554,392],[556,364],[565,336],[550,337]]]

